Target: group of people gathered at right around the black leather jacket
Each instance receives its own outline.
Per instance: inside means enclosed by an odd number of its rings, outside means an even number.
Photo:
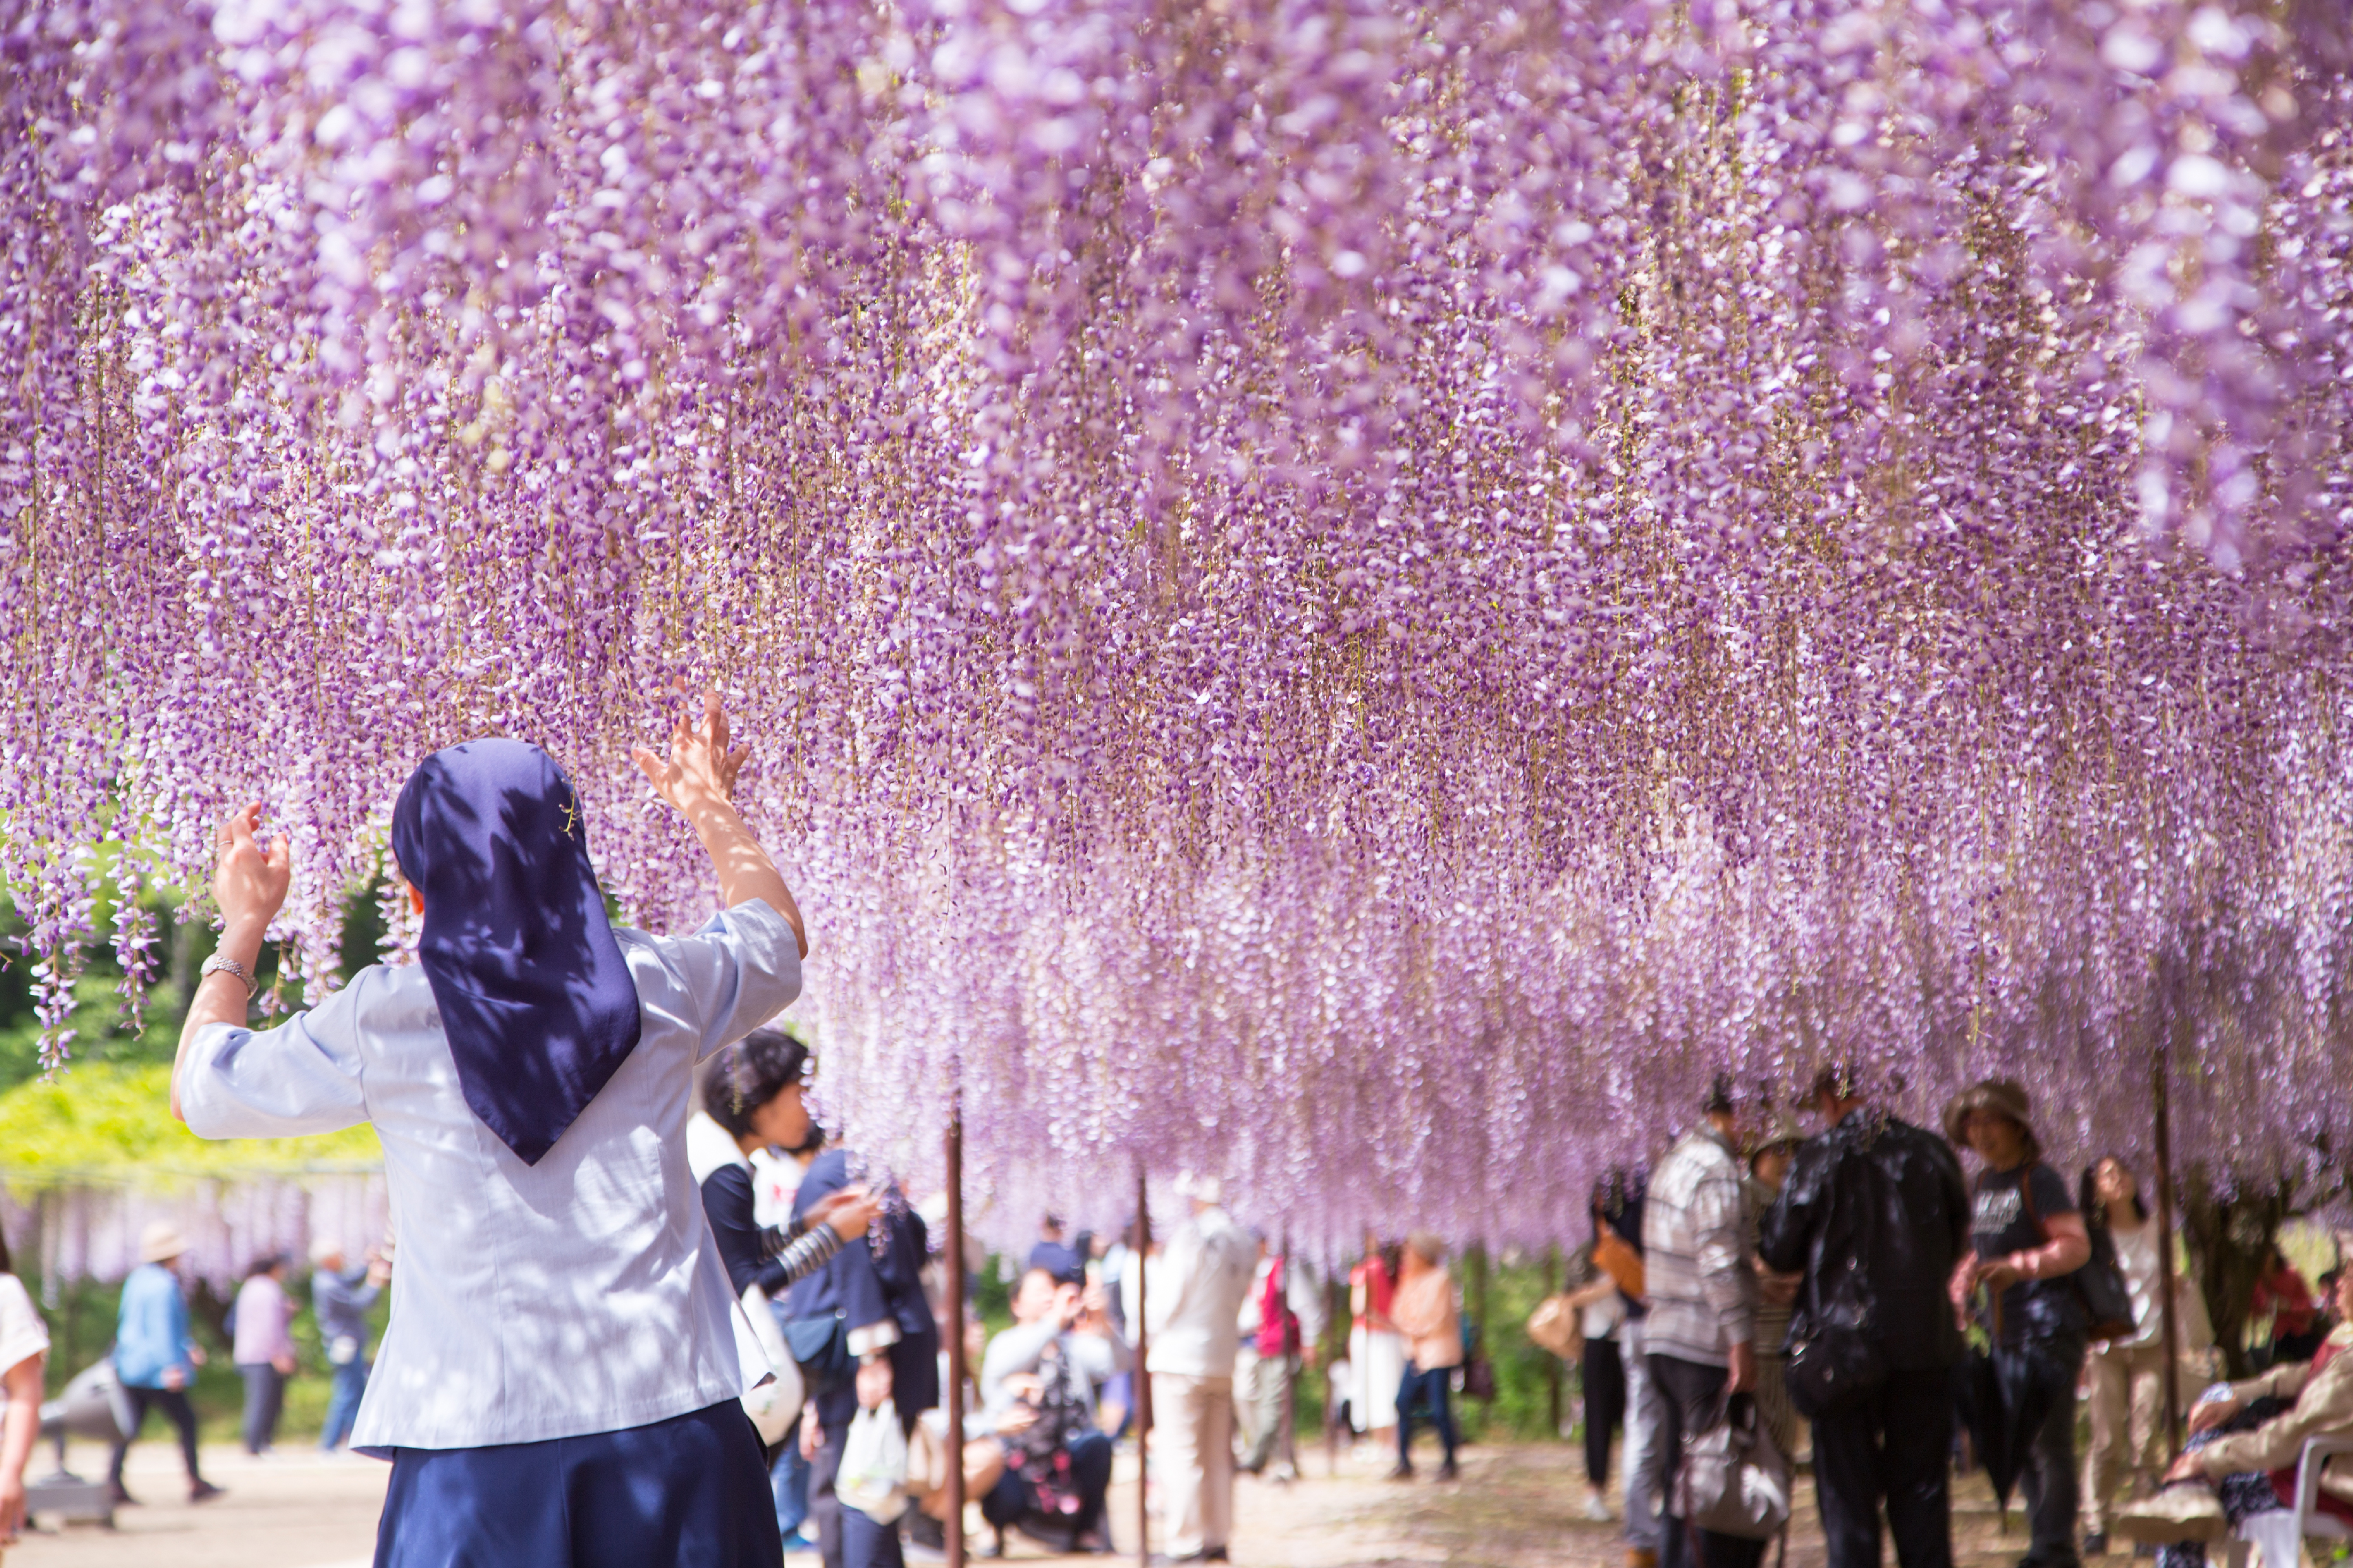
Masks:
[[[1593,1190],[1555,1312],[1574,1316],[1591,1519],[1612,1516],[1624,1439],[1631,1568],[1755,1568],[1786,1497],[1741,1516],[1722,1476],[1786,1493],[1800,1453],[1831,1568],[1875,1568],[1882,1533],[1904,1568],[1948,1568],[1955,1465],[2024,1495],[2021,1568],[2078,1568],[2111,1540],[2193,1568],[2224,1526],[2285,1507],[2306,1436],[2353,1434],[2353,1286],[2327,1279],[2332,1316],[2273,1248],[2254,1316],[2275,1366],[2217,1382],[2205,1293],[2132,1164],[2066,1180],[2019,1084],[1969,1086],[1939,1131],[1873,1105],[1852,1070],[1817,1077],[1807,1107],[1812,1135],[1718,1079],[1654,1168]],[[2195,1434],[2181,1460],[2167,1382]]]

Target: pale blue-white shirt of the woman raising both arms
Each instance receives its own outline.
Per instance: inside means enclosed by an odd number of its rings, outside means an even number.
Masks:
[[[179,1091],[198,1138],[372,1121],[400,1262],[353,1448],[619,1432],[767,1375],[687,1168],[694,1065],[800,992],[793,929],[741,903],[689,938],[614,931],[638,1046],[536,1166],[466,1105],[416,964],[362,969],[275,1030],[207,1025]],[[741,1338],[739,1338],[741,1326]]]

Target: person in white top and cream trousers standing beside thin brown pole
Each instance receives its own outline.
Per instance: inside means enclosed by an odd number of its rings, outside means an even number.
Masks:
[[[1167,1519],[1167,1556],[1224,1563],[1233,1533],[1235,1316],[1249,1293],[1257,1244],[1224,1211],[1217,1178],[1186,1173],[1176,1190],[1193,1218],[1169,1239],[1146,1293],[1153,1378],[1153,1460]]]

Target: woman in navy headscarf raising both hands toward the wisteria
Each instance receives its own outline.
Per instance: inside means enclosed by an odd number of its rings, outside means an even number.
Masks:
[[[739,1403],[727,1269],[687,1168],[694,1065],[800,990],[800,912],[729,802],[715,696],[635,752],[694,827],[725,910],[614,929],[581,802],[520,741],[426,757],[393,806],[419,961],[247,1030],[289,844],[261,806],[219,832],[224,931],[174,1110],[200,1138],[369,1121],[400,1222],[393,1314],[353,1446],[388,1455],[376,1568],[774,1568],[776,1514]]]

